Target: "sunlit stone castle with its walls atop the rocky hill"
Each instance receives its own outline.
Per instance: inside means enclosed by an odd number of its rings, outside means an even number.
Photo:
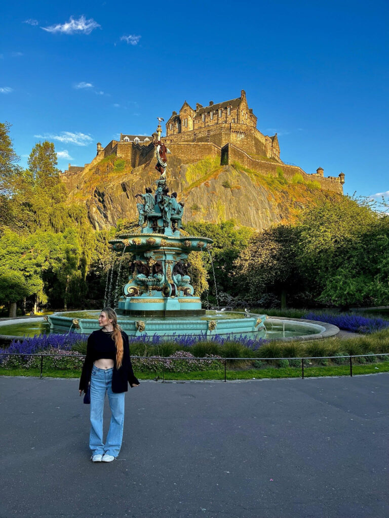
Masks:
[[[63,175],[69,181],[69,177],[79,176],[109,155],[128,160],[132,168],[152,164],[156,139],[156,133],[150,136],[120,134],[120,140],[111,140],[104,148],[98,142],[97,154],[90,164],[84,167],[69,164]],[[216,104],[210,101],[205,107],[196,104],[196,109],[185,101],[179,112],[173,111],[166,122],[166,136],[161,140],[169,147],[170,156],[183,164],[212,157],[220,160],[220,165],[238,163],[273,176],[279,175],[281,168],[286,178],[293,178],[298,173],[303,180],[317,180],[322,189],[343,193],[343,172],[337,177],[324,177],[324,170],[319,167],[315,173],[307,174],[301,167],[280,159],[277,134],[268,136],[257,130],[257,117],[248,108],[244,90],[235,99]]]

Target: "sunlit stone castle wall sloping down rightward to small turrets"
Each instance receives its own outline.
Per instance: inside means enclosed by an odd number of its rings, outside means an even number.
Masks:
[[[339,194],[343,194],[343,187],[338,177],[322,177],[315,174],[308,175],[301,167],[287,165],[287,164],[275,164],[274,162],[268,162],[266,160],[254,159],[244,150],[229,143],[221,150],[221,163],[223,165],[233,164],[238,162],[239,164],[252,169],[253,171],[260,172],[265,175],[272,175],[276,177],[278,170],[281,168],[285,178],[291,180],[296,173],[299,173],[304,181],[318,181],[322,189],[327,191],[335,191]]]

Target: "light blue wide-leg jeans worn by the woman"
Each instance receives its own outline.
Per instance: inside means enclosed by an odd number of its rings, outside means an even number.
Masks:
[[[120,452],[124,425],[124,392],[112,392],[113,369],[99,369],[93,365],[90,381],[90,436],[89,448],[93,455],[113,455]],[[105,394],[108,393],[111,420],[108,435],[103,441],[103,412]]]

